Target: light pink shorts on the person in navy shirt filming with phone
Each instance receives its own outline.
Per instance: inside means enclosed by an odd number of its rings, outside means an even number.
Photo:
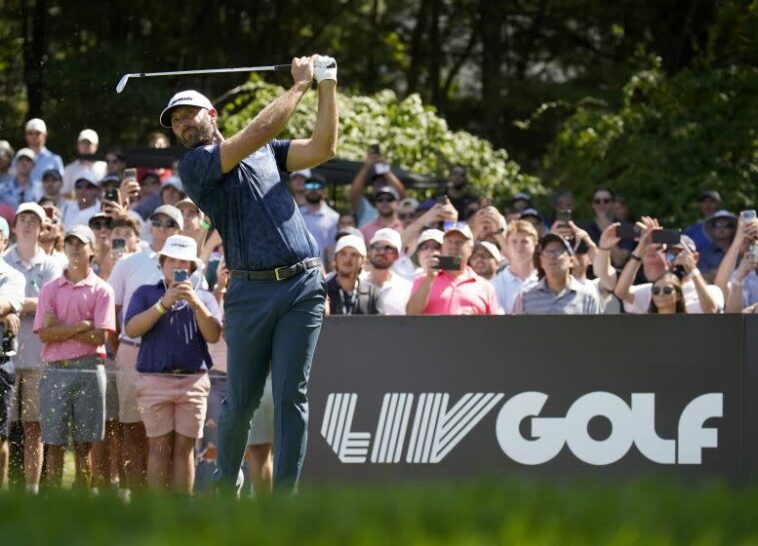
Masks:
[[[137,406],[148,438],[178,432],[202,438],[211,380],[207,373],[193,375],[139,374]]]

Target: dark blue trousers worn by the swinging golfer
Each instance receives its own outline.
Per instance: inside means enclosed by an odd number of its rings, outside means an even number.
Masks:
[[[320,268],[284,281],[230,280],[224,304],[227,396],[218,423],[217,485],[237,489],[250,419],[269,366],[274,395],[274,489],[297,489],[308,427],[308,376],[324,318]]]

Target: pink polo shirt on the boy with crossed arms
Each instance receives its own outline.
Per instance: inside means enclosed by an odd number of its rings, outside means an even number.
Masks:
[[[37,302],[37,314],[34,316],[34,333],[42,329],[47,312],[53,313],[63,324],[89,320],[97,329],[116,331],[113,288],[92,270],[86,279],[76,284],[69,281],[64,273],[42,287]],[[95,347],[69,339],[45,343],[42,346],[42,360],[46,362],[89,355],[105,358],[105,345]]]

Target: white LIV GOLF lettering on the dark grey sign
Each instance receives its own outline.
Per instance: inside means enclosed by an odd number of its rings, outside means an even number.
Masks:
[[[418,395],[410,426],[414,395],[384,395],[373,435],[352,430],[358,395],[330,394],[321,435],[343,463],[435,464],[442,461],[504,398],[502,393],[467,393],[449,407],[447,393]],[[718,447],[718,430],[705,421],[723,416],[724,395],[709,393],[692,400],[679,418],[677,439],[664,439],[655,430],[655,394],[633,393],[631,407],[608,392],[591,392],[577,399],[565,417],[540,417],[548,395],[524,392],[500,408],[495,435],[503,453],[524,465],[555,458],[568,445],[574,456],[588,464],[609,465],[622,459],[634,444],[648,460],[658,464],[701,464],[704,448]],[[590,436],[587,426],[597,416],[611,423],[603,440]],[[520,427],[531,421],[530,438]]]

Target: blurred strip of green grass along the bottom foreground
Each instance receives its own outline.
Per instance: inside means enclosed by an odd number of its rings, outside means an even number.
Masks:
[[[295,497],[0,495],[2,545],[758,545],[758,490],[492,481]]]

